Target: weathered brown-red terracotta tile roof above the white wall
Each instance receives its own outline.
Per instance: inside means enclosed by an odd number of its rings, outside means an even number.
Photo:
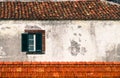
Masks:
[[[0,19],[120,19],[120,6],[101,1],[0,2]]]

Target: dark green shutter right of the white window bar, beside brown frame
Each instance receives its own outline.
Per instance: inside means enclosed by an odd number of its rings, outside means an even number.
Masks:
[[[36,52],[42,53],[42,34],[36,34]]]

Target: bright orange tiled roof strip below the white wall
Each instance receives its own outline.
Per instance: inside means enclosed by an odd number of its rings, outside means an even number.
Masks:
[[[0,62],[0,78],[120,78],[120,62]]]

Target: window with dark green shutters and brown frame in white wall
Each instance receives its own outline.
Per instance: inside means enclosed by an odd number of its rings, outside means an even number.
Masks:
[[[27,54],[44,54],[45,32],[29,30],[23,33],[22,52],[27,52]]]

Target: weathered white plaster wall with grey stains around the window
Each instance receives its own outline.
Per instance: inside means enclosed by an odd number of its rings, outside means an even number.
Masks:
[[[120,21],[0,21],[1,61],[120,61]],[[25,27],[46,31],[42,55],[21,52]]]

